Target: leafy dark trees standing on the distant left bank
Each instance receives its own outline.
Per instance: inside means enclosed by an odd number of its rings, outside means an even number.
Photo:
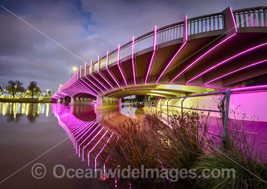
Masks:
[[[18,92],[25,93],[26,91],[28,91],[28,94],[30,96],[32,96],[32,98],[33,98],[34,95],[37,95],[37,94],[41,93],[41,90],[37,86],[37,82],[36,81],[31,81],[29,83],[27,89],[25,89],[22,86],[22,82],[20,82],[19,80],[16,80],[16,81],[10,80],[10,81],[8,81],[8,86],[5,89],[6,89],[8,94],[13,96],[13,98],[15,98],[15,95]],[[1,93],[2,93],[2,88],[0,90],[1,90]],[[48,95],[49,96],[51,95],[51,91],[48,92]]]

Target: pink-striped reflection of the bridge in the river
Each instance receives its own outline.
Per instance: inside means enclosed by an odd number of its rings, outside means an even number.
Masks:
[[[94,106],[90,105],[52,104],[52,113],[67,132],[76,153],[83,161],[88,158],[88,166],[90,163],[95,163],[96,169],[97,158],[111,137],[114,137],[110,129],[127,117],[141,117],[140,113],[135,113],[136,110],[137,107],[130,103],[116,109],[101,111],[95,111]]]

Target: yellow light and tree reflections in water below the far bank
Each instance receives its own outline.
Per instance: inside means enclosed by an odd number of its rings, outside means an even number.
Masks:
[[[7,122],[17,123],[25,114],[29,122],[34,123],[41,113],[50,116],[50,110],[50,103],[0,102],[0,113],[7,117]]]

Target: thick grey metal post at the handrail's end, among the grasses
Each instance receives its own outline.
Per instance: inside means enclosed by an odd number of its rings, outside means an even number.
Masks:
[[[223,111],[224,111],[224,120],[223,120],[223,134],[222,134],[222,142],[223,144],[226,144],[226,138],[227,138],[227,125],[228,125],[228,113],[229,113],[229,102],[230,102],[230,89],[227,89],[226,94],[224,95],[222,99],[223,104]],[[226,99],[226,105],[224,109],[224,101]]]

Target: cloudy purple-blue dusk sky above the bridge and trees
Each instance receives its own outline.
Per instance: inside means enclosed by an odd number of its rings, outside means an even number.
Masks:
[[[0,0],[0,83],[36,81],[52,94],[71,68],[153,30],[189,18],[266,5],[266,0]],[[51,39],[56,41],[52,41]],[[65,47],[66,49],[64,49]]]

